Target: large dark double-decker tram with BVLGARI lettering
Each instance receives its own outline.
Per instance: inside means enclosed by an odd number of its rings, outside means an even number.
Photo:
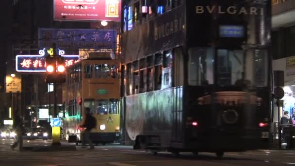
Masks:
[[[270,0],[123,4],[126,144],[219,157],[268,147]]]

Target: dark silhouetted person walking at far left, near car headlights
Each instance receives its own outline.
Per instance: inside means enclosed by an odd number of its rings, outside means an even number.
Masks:
[[[16,141],[12,144],[11,149],[15,150],[16,146],[19,144],[19,151],[22,151],[23,150],[22,134],[24,133],[24,128],[23,128],[22,116],[19,110],[16,110],[16,115],[14,116],[13,129],[15,130],[15,133],[16,133],[16,138],[15,138]]]

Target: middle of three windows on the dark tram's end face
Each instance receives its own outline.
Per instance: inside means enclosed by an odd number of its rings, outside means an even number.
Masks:
[[[237,85],[244,73],[243,50],[217,50],[217,84]]]

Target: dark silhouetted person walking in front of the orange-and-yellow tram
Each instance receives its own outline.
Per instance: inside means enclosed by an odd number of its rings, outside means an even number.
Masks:
[[[94,149],[94,145],[90,139],[90,131],[96,127],[96,119],[90,114],[90,108],[85,108],[85,119],[81,127],[85,128],[82,133],[82,146],[85,146],[85,144],[88,143],[90,149]]]

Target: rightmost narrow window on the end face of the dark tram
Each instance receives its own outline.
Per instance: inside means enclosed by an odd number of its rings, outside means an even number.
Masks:
[[[254,50],[254,84],[255,86],[267,85],[267,51]]]

